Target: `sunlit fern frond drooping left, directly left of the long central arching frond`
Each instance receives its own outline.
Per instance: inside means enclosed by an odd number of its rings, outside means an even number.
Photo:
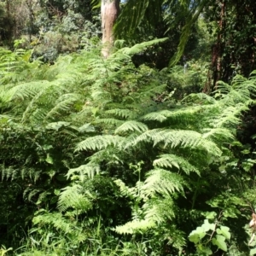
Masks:
[[[124,137],[112,136],[112,135],[99,135],[95,137],[89,137],[83,142],[79,143],[75,151],[81,150],[100,150],[107,148],[110,145],[118,146],[124,141]]]

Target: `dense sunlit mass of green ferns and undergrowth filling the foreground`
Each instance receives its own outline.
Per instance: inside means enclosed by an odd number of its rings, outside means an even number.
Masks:
[[[184,95],[197,67],[184,74],[132,62],[164,40],[116,49],[108,59],[99,48],[84,50],[52,66],[2,49],[8,253],[249,251],[254,160],[236,132],[253,105],[255,75],[219,82],[211,95]]]

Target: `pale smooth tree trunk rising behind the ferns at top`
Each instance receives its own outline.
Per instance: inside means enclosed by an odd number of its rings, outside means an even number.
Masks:
[[[113,24],[119,15],[119,0],[102,0],[102,55],[108,58],[113,46]]]

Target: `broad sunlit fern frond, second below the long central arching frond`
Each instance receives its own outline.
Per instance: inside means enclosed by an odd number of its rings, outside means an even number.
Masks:
[[[157,194],[170,196],[175,191],[183,193],[184,186],[186,183],[182,176],[157,168],[147,173],[147,178],[141,189],[146,197],[154,197]]]

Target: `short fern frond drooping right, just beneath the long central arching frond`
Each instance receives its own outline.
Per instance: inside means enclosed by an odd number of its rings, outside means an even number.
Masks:
[[[178,170],[182,169],[186,174],[196,172],[200,175],[200,171],[195,166],[191,165],[188,160],[185,160],[183,157],[177,156],[176,154],[161,154],[160,159],[154,160],[153,165],[166,168],[172,168],[174,166]]]

